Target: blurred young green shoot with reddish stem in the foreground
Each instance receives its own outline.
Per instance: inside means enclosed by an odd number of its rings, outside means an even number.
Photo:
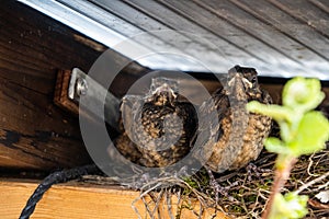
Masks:
[[[329,138],[329,122],[320,112],[314,111],[324,99],[318,79],[297,77],[285,84],[282,106],[256,101],[248,103],[249,112],[270,116],[280,126],[281,138],[264,140],[266,150],[277,153],[277,159],[274,184],[263,219],[303,218],[307,215],[307,196],[298,196],[294,192],[282,195],[280,192],[298,157],[325,148]]]

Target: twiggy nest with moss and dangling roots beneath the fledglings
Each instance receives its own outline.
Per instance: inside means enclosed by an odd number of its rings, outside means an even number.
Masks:
[[[329,188],[329,149],[299,158],[282,193],[298,191],[308,195],[308,215],[306,218],[325,218],[329,204],[321,203],[316,195]],[[271,193],[274,177],[275,154],[263,151],[260,158],[246,169],[225,174],[213,174],[205,169],[189,178],[163,176],[150,180],[140,188],[140,196],[149,218],[160,218],[159,206],[167,205],[171,218],[180,218],[182,209],[193,211],[195,218],[202,218],[204,211],[224,212],[229,218],[261,218]],[[177,203],[172,204],[172,196]],[[197,200],[196,208],[192,203]],[[172,205],[178,206],[175,210]],[[139,215],[139,218],[143,218]]]

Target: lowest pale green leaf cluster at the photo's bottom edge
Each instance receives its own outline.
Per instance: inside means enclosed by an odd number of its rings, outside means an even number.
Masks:
[[[285,196],[276,194],[270,219],[297,219],[307,215],[307,196],[288,193]]]

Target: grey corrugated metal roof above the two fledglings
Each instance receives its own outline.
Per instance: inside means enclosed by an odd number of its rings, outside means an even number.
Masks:
[[[329,80],[327,0],[20,0],[154,69]]]

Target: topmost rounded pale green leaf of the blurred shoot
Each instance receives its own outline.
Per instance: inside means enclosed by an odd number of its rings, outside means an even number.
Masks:
[[[325,93],[321,92],[318,79],[296,77],[285,84],[282,92],[284,106],[303,112],[314,110],[324,99]]]

